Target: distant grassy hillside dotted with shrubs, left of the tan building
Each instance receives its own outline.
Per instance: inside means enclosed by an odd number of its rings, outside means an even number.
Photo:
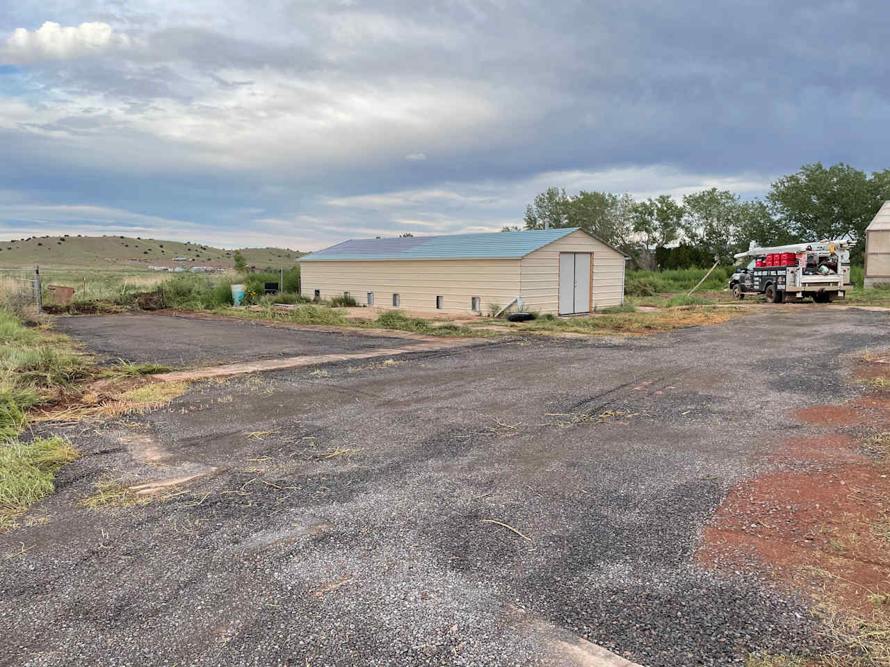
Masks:
[[[291,267],[305,253],[288,248],[241,248],[247,263],[256,267]],[[47,268],[126,269],[146,265],[173,266],[174,258],[189,264],[231,266],[234,250],[212,245],[133,237],[31,237],[0,241],[0,267],[18,268],[40,264]]]

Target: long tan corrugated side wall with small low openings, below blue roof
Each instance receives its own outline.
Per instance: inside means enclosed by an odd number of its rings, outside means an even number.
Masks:
[[[438,312],[470,313],[470,299],[478,296],[488,315],[492,305],[505,306],[519,294],[519,260],[307,261],[300,274],[304,296],[349,292],[367,305],[373,292],[376,308],[392,308],[392,294],[399,293],[404,310],[435,312],[442,296]]]

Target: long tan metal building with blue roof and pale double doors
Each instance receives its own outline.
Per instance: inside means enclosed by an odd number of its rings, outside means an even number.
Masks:
[[[378,308],[570,315],[624,301],[624,253],[578,228],[353,239],[299,262],[303,296]]]

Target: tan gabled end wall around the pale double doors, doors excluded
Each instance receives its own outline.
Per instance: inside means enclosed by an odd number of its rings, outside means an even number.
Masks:
[[[575,231],[522,258],[523,304],[542,313],[559,311],[559,253],[594,253],[594,301],[591,308],[621,303],[624,255],[583,231]]]

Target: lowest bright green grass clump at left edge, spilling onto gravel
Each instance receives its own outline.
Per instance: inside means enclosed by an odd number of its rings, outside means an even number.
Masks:
[[[58,437],[0,445],[0,526],[52,494],[55,473],[78,456],[68,440]]]

